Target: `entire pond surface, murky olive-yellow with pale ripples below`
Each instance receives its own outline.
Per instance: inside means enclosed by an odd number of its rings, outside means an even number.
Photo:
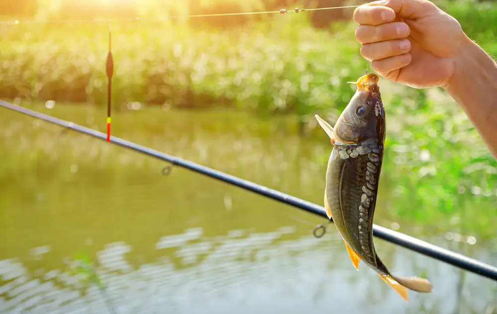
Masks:
[[[105,127],[103,109],[36,109]],[[113,117],[118,137],[323,202],[326,137],[240,113]],[[312,236],[323,219],[184,169],[164,176],[167,163],[82,134],[1,110],[0,151],[0,313],[492,313],[488,279],[376,240],[394,273],[434,286],[406,303],[367,266],[355,270],[332,225]],[[375,223],[496,260],[484,241],[449,242],[391,217],[381,210],[389,191],[381,187]],[[72,273],[78,254],[106,290]]]

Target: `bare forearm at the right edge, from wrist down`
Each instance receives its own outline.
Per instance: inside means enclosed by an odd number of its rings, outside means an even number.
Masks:
[[[497,64],[467,36],[445,90],[463,108],[497,159]]]

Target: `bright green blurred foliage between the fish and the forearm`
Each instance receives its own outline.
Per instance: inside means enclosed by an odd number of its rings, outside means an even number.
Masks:
[[[463,230],[491,230],[497,162],[466,114],[436,91],[429,94],[406,89],[388,104],[387,123],[394,124],[393,131],[387,129],[383,170],[394,187],[389,211],[436,225],[448,220]]]

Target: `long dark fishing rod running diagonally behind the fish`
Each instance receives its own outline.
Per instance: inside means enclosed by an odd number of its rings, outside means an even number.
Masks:
[[[65,120],[61,120],[58,118],[54,118],[49,115],[45,115],[42,113],[39,113],[34,110],[30,110],[21,106],[17,106],[5,101],[0,100],[0,106],[6,109],[13,110],[15,112],[25,114],[27,116],[30,116],[32,118],[40,119],[49,123],[52,123],[54,125],[62,126],[66,129],[70,129],[73,131],[77,131],[80,133],[83,133],[85,135],[89,135],[101,140],[107,140],[107,136],[105,133],[96,131],[94,129],[80,126],[77,124],[74,124],[72,122],[68,122]],[[317,216],[323,217],[328,219],[328,216],[326,215],[325,208],[323,206],[319,206],[317,204],[308,202],[306,200],[297,198],[295,196],[291,196],[285,193],[282,193],[280,191],[267,188],[258,184],[255,184],[253,182],[237,178],[232,175],[225,174],[223,172],[193,163],[188,160],[184,160],[179,157],[171,156],[162,152],[159,152],[157,150],[151,149],[149,147],[145,147],[130,141],[127,141],[125,139],[121,139],[115,136],[111,136],[110,143],[115,144],[117,146],[121,146],[127,149],[134,150],[136,152],[163,160],[167,161],[175,166],[179,166],[194,172],[197,172],[199,174],[208,176],[213,179],[217,179],[220,181],[223,181],[225,183],[237,186],[239,188],[244,188],[246,190],[252,191],[254,193],[257,193],[259,195],[266,196],[268,198],[272,198],[276,201],[291,205],[293,207],[299,208],[301,210],[305,210],[309,213],[315,214]],[[166,169],[166,168],[165,168]],[[170,170],[170,169],[169,169]],[[163,171],[164,173],[164,171]],[[168,172],[167,172],[168,173]],[[166,174],[166,173],[164,173]],[[331,220],[332,222],[332,220]],[[464,270],[467,270],[469,272],[481,275],[483,277],[492,279],[497,281],[497,267],[483,263],[479,260],[476,260],[474,258],[467,257],[465,255],[449,251],[440,247],[437,247],[435,245],[429,244],[427,242],[421,241],[419,239],[410,237],[408,235],[402,234],[400,232],[396,232],[393,230],[390,230],[385,227],[378,226],[376,224],[373,224],[373,235],[379,239],[388,241],[390,243],[393,243],[395,245],[404,247],[406,249],[430,256],[434,259],[440,260],[442,262],[451,264],[453,266],[462,268]]]

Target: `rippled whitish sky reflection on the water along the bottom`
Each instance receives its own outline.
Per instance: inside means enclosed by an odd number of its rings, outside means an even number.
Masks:
[[[108,297],[119,314],[366,309],[378,314],[452,314],[459,313],[454,312],[457,303],[478,310],[492,298],[495,285],[490,281],[467,275],[466,289],[458,296],[455,268],[380,243],[379,251],[392,269],[403,274],[425,269],[435,286],[431,295],[411,293],[406,304],[373,271],[352,267],[336,233],[322,240],[288,237],[295,232],[289,225],[272,232],[232,230],[207,237],[201,227],[191,228],[158,238],[156,259],[140,256],[124,241],[109,243],[95,257],[106,295],[71,275],[70,259],[65,258],[64,267],[52,268],[49,246],[34,248],[31,258],[0,261],[1,313],[109,313],[104,302]],[[478,255],[486,257],[484,252]],[[41,268],[35,268],[33,259]]]

